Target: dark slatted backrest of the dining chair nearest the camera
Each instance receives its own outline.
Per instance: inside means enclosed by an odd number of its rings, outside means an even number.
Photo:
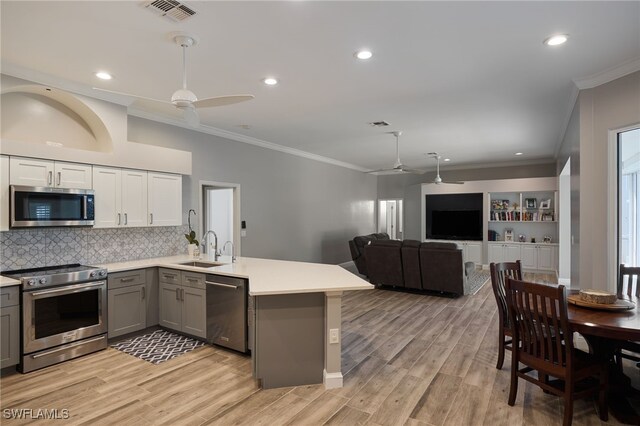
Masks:
[[[565,286],[507,278],[505,290],[517,359],[562,377],[571,369],[573,353]]]

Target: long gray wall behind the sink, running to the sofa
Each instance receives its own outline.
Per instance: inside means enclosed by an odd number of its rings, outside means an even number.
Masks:
[[[351,260],[349,239],[375,231],[375,176],[137,117],[128,139],[193,153],[184,223],[198,210],[199,181],[241,185],[243,256],[342,263]]]

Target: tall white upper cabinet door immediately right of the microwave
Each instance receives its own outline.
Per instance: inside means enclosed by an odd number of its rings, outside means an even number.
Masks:
[[[93,168],[95,228],[114,228],[123,224],[122,171],[111,167]]]

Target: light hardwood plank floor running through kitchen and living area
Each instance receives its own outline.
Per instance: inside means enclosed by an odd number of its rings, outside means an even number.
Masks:
[[[562,422],[560,400],[524,381],[516,405],[507,405],[510,358],[507,353],[504,367],[496,370],[497,311],[489,283],[459,299],[386,290],[347,293],[342,345],[341,389],[260,390],[248,357],[213,347],[160,365],[110,348],[27,375],[5,375],[0,408],[68,409],[70,418],[54,424],[91,425]],[[635,366],[629,364],[628,371],[637,378]],[[576,403],[574,424],[601,424],[593,401]],[[611,416],[609,424],[617,424]]]

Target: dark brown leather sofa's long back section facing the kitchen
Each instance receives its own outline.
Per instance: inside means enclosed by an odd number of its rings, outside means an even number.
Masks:
[[[462,249],[455,243],[415,240],[372,240],[364,246],[369,281],[377,286],[465,294],[466,276]]]

